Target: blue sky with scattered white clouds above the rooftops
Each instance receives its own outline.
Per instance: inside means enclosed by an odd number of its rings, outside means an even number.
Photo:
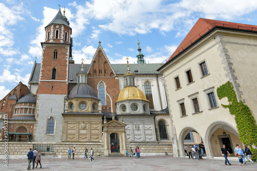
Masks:
[[[99,41],[111,63],[134,63],[137,35],[146,62],[162,63],[199,17],[257,25],[255,0],[0,0],[0,99],[20,81],[28,84],[59,4],[72,28],[75,63],[90,64]]]

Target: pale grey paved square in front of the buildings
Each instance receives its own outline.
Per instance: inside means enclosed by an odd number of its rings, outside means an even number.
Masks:
[[[257,163],[247,162],[246,165],[240,166],[235,157],[228,158],[232,165],[225,165],[223,157],[199,161],[188,158],[173,158],[172,156],[142,156],[140,159],[96,156],[94,158],[95,161],[93,162],[84,158],[75,158],[75,160],[66,158],[42,159],[42,168],[32,170],[257,170]],[[8,167],[4,166],[3,161],[0,170],[27,170],[28,167],[26,159],[9,159]]]

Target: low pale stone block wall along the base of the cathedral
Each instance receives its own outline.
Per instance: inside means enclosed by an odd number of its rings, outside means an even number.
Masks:
[[[40,142],[8,142],[8,155],[9,159],[27,159],[29,148],[33,148],[33,144],[53,144],[54,152],[42,152],[42,158],[67,158],[68,148],[76,148],[75,158],[82,158],[85,155],[85,147],[88,149],[93,148],[95,156],[104,156],[104,146],[102,143],[40,143]],[[135,147],[139,146],[141,156],[158,156],[158,155],[172,155],[172,144],[128,144],[127,150],[130,147],[135,151]],[[0,159],[5,156],[5,143],[0,144]],[[43,156],[44,154],[44,156]]]

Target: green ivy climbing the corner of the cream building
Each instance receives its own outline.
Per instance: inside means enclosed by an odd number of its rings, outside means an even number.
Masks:
[[[240,141],[252,151],[252,154],[254,154],[253,159],[257,159],[257,149],[252,148],[252,145],[257,146],[257,125],[250,108],[243,104],[242,101],[237,102],[235,91],[229,81],[217,88],[217,96],[219,100],[224,97],[228,98],[229,105],[222,104],[222,106],[229,108],[231,115],[235,116]]]

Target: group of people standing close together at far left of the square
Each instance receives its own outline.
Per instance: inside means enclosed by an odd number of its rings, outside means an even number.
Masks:
[[[30,163],[32,162],[33,168],[35,166],[35,162],[36,162],[36,167],[38,168],[38,164],[40,164],[40,168],[42,168],[41,165],[41,150],[39,149],[39,151],[36,150],[36,148],[32,151],[32,148],[29,148],[29,152],[27,154],[28,156],[28,170],[30,170]]]

